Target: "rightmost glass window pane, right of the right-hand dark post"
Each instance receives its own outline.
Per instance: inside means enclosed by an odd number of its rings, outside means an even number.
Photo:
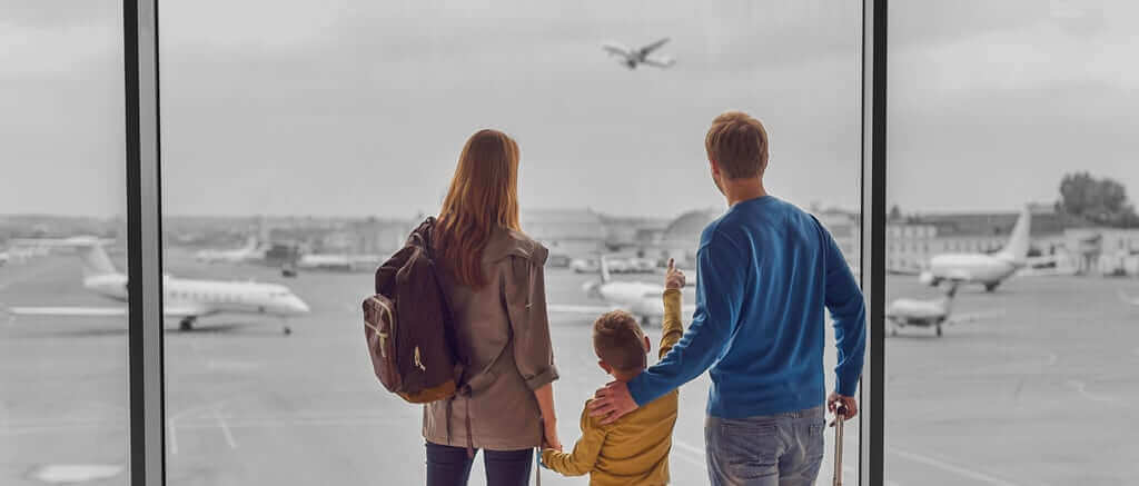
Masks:
[[[950,252],[887,278],[886,484],[1133,483],[1139,8],[890,7],[888,205]]]

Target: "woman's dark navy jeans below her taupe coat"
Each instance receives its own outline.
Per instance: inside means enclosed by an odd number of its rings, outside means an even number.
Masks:
[[[478,451],[476,450],[477,454]],[[483,451],[486,486],[526,486],[534,450]],[[465,447],[427,443],[427,486],[466,486],[473,459]]]

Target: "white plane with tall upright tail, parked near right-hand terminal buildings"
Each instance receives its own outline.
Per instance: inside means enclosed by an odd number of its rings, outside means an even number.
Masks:
[[[928,270],[921,272],[923,283],[936,287],[943,281],[957,283],[981,283],[986,291],[997,289],[1005,279],[1011,277],[1026,264],[1030,246],[1032,212],[1025,206],[1013,226],[1008,242],[997,254],[942,254],[929,260]]]

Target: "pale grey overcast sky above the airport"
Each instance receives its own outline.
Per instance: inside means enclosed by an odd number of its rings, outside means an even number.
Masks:
[[[1139,6],[891,7],[892,204],[1011,211],[1074,170],[1139,195]],[[0,0],[0,213],[123,212],[120,8]],[[522,147],[524,207],[671,216],[722,206],[703,137],[727,108],[768,125],[772,192],[858,205],[860,2],[164,0],[161,15],[167,214],[434,212],[464,140],[491,126]],[[600,50],[662,36],[671,69]]]

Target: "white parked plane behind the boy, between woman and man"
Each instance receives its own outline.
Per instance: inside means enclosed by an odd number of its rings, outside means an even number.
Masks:
[[[604,256],[600,260],[600,281],[585,282],[582,290],[590,298],[601,300],[605,305],[549,304],[546,306],[547,311],[598,316],[621,308],[640,318],[645,327],[648,327],[650,321],[659,322],[664,319],[664,303],[661,298],[664,294],[664,285],[613,280],[609,274],[608,261]],[[681,312],[688,315],[695,311],[696,305],[691,303],[685,304],[681,308]]]

